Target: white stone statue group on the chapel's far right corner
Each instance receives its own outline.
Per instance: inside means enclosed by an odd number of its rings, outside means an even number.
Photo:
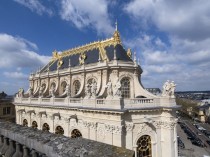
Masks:
[[[174,83],[174,81],[170,82],[169,80],[167,80],[163,85],[162,96],[168,96],[174,98],[175,89],[176,89],[176,84]]]

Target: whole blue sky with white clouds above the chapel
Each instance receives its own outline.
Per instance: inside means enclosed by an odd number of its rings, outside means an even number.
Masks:
[[[28,88],[28,76],[62,51],[111,37],[136,52],[144,87],[210,89],[210,1],[1,0],[0,91]]]

